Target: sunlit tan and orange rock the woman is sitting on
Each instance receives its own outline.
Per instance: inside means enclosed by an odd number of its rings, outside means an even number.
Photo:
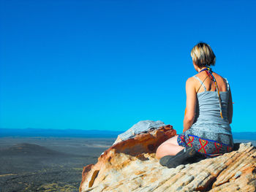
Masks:
[[[154,156],[175,135],[167,125],[117,139],[97,164],[83,168],[80,191],[255,191],[256,150],[251,143],[217,158],[167,169]]]

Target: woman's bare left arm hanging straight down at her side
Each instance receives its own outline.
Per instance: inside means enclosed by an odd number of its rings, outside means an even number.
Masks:
[[[183,132],[187,131],[192,123],[194,123],[195,118],[195,105],[197,103],[197,93],[195,91],[195,80],[190,77],[186,82],[186,94],[187,94],[187,101],[186,101],[186,113],[184,116],[183,121]]]

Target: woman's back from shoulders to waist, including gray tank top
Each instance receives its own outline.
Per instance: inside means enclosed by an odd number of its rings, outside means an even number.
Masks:
[[[191,128],[209,131],[213,133],[231,134],[231,128],[227,116],[229,101],[229,85],[227,80],[213,73],[216,78],[221,99],[222,116],[220,115],[220,106],[218,93],[215,85],[212,84],[208,75],[193,76],[195,78],[195,88],[197,91],[197,106],[195,110],[195,120]],[[200,77],[204,79],[200,79]],[[221,82],[221,83],[218,83]],[[220,84],[220,85],[219,85]]]

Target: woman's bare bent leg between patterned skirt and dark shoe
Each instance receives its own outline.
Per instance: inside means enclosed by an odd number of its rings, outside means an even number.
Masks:
[[[178,145],[178,135],[167,139],[157,148],[156,158],[160,159],[165,155],[176,155],[178,152],[184,149],[184,147]]]

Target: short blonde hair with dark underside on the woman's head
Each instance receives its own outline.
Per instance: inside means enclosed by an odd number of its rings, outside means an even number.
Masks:
[[[200,42],[192,48],[190,53],[192,60],[198,67],[214,66],[216,57],[210,45]]]

